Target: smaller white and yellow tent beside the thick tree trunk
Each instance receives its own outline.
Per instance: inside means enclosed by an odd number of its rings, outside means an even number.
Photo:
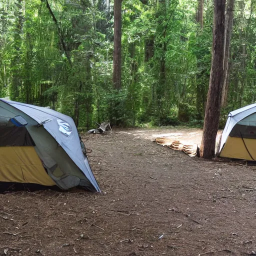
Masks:
[[[220,157],[256,160],[256,103],[228,114],[217,154]]]

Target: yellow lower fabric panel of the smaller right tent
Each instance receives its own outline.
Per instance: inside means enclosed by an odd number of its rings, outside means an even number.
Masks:
[[[256,159],[256,140],[254,138],[243,138],[243,141],[251,154]],[[228,136],[224,147],[222,148],[220,155],[221,157],[237,158],[244,160],[253,160],[250,157],[242,138]]]

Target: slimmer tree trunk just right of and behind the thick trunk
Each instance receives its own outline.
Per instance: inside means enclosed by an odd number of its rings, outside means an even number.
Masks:
[[[224,35],[224,57],[223,57],[223,87],[221,106],[226,106],[227,102],[227,89],[228,89],[228,76],[229,76],[229,54],[230,54],[230,39],[233,26],[233,13],[234,13],[234,0],[228,0],[226,3],[225,12],[225,35]]]

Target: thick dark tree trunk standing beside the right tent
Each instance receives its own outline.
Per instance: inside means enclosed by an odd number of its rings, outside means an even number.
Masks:
[[[225,0],[214,0],[214,28],[209,89],[204,116],[200,156],[214,156],[215,139],[218,131],[220,99],[223,84]]]

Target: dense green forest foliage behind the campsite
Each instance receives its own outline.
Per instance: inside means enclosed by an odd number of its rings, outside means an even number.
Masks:
[[[234,2],[223,121],[255,101],[255,5]],[[112,80],[113,20],[112,0],[2,0],[0,97],[49,106],[85,128],[106,119],[202,125],[212,1],[122,0],[119,89]]]

